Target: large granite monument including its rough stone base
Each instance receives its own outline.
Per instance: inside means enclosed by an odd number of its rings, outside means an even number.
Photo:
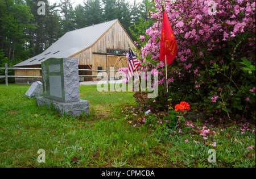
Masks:
[[[52,106],[61,114],[89,114],[89,101],[80,99],[78,60],[48,59],[42,62],[43,97],[39,106]]]

